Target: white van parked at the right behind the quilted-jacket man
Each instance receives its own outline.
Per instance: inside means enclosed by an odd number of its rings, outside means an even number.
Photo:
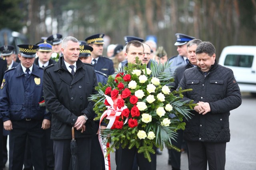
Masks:
[[[233,70],[241,92],[256,96],[256,46],[227,46],[218,64]]]

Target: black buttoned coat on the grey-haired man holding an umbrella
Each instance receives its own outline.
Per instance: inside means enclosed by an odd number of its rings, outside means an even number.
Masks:
[[[75,130],[75,137],[94,135],[94,103],[88,101],[96,94],[97,78],[91,64],[76,62],[74,77],[67,70],[63,57],[58,63],[44,68],[44,97],[46,108],[52,113],[51,139],[71,139],[71,128],[78,116],[86,114],[84,133]]]

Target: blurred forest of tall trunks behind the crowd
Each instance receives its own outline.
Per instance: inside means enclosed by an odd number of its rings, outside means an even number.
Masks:
[[[2,28],[29,43],[54,33],[104,33],[106,45],[154,35],[168,58],[177,55],[175,33],[184,33],[212,42],[218,58],[228,45],[256,45],[256,0],[0,0]]]

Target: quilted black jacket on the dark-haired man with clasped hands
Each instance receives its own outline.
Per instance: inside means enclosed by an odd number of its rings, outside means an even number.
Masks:
[[[184,100],[192,99],[194,103],[208,102],[211,111],[205,115],[192,111],[192,119],[186,122],[184,139],[188,141],[229,142],[230,110],[241,105],[241,93],[234,78],[233,71],[217,64],[212,65],[206,76],[198,67],[184,71],[178,86],[182,89],[192,88],[184,93]]]

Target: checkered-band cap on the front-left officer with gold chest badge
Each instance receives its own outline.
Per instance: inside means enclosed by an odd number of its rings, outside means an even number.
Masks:
[[[38,45],[33,45],[33,44],[20,44],[17,46],[20,48],[20,54],[23,57],[28,57],[28,58],[36,57],[36,49],[39,48]]]

